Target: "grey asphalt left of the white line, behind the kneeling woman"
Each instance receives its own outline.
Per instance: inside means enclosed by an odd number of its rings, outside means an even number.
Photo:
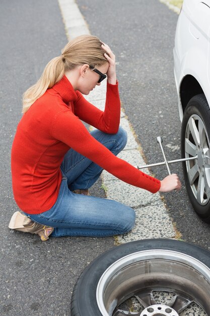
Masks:
[[[12,231],[18,210],[13,199],[10,152],[21,118],[22,93],[67,42],[57,0],[1,1],[0,8],[0,315],[70,314],[73,287],[95,257],[114,246],[113,238],[50,238]],[[94,188],[93,188],[94,191]],[[93,195],[103,196],[100,184]]]

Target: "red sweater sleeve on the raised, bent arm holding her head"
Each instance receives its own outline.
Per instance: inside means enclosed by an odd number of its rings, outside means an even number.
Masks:
[[[116,134],[118,132],[120,122],[118,82],[116,85],[107,82],[104,112],[88,102],[79,91],[77,91],[77,95],[78,99],[74,102],[76,116],[102,132],[108,134]]]

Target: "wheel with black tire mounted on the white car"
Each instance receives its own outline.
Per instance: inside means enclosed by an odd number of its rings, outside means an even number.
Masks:
[[[210,221],[210,109],[204,94],[193,96],[184,111],[181,129],[181,156],[197,155],[183,162],[189,200],[195,212]]]

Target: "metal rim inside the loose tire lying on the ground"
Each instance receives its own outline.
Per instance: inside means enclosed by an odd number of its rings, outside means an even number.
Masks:
[[[162,309],[154,291],[174,293]],[[210,312],[210,269],[199,260],[177,251],[145,250],[115,261],[101,276],[96,290],[103,316],[177,316],[196,303],[203,315]],[[127,311],[119,306],[135,297],[145,308]],[[153,309],[153,310],[152,310]]]

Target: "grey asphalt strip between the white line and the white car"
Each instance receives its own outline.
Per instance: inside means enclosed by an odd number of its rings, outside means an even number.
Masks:
[[[147,163],[163,161],[156,141],[163,138],[168,160],[180,158],[173,46],[178,15],[158,0],[77,0],[90,32],[116,55],[120,97]],[[171,167],[172,166],[172,167]],[[210,226],[195,214],[184,185],[181,164],[170,165],[182,182],[179,192],[164,194],[171,218],[184,241],[210,249]],[[152,169],[163,179],[166,167]]]

